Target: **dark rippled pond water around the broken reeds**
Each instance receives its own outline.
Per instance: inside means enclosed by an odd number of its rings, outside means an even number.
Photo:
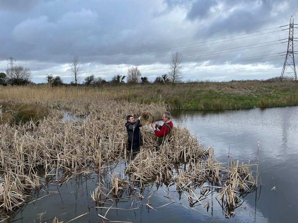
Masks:
[[[109,210],[107,219],[154,223],[298,222],[298,107],[179,111],[172,112],[172,121],[197,134],[202,146],[213,146],[215,158],[222,163],[228,161],[229,154],[230,160],[244,164],[255,164],[258,157],[258,189],[242,197],[243,203],[234,210],[234,217],[227,218],[215,199],[216,193],[208,196],[207,211],[203,205],[189,206],[187,198],[180,198],[175,186],[166,189],[165,185],[156,188],[153,184],[143,191],[143,197],[150,196],[149,200],[120,199],[113,206],[117,209]],[[36,192],[36,197],[42,199],[24,205],[7,222],[53,222],[54,217],[64,223],[108,222],[98,215],[104,216],[107,209],[94,208],[98,204],[90,195],[98,181],[96,175],[85,174],[65,184],[49,184]],[[146,203],[162,207],[153,210]]]

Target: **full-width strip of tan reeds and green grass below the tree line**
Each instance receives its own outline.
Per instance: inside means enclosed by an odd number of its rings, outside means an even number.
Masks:
[[[129,102],[165,102],[172,109],[226,110],[298,105],[295,81],[231,81],[102,87],[0,87],[0,99],[54,100],[106,98]]]

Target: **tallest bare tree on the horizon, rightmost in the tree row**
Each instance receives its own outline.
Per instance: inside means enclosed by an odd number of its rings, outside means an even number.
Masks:
[[[184,78],[181,70],[183,69],[182,65],[183,56],[181,53],[176,51],[176,53],[172,53],[171,61],[170,61],[170,71],[168,73],[169,78],[172,83],[180,81]]]

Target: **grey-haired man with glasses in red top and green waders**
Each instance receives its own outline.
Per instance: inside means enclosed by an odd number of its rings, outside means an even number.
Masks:
[[[164,122],[163,125],[159,125],[157,122],[151,123],[151,127],[153,128],[154,133],[158,137],[158,145],[155,147],[155,149],[159,148],[159,146],[164,143],[167,135],[169,137],[171,136],[173,123],[170,119],[171,114],[169,112],[165,112],[163,113],[162,117],[162,120]]]

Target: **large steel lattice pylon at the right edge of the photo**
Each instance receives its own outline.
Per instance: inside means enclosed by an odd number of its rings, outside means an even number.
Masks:
[[[293,79],[297,80],[295,59],[294,59],[294,18],[291,16],[289,40],[286,59],[284,60],[284,67],[281,71],[280,79]],[[296,39],[296,38],[295,38]]]

